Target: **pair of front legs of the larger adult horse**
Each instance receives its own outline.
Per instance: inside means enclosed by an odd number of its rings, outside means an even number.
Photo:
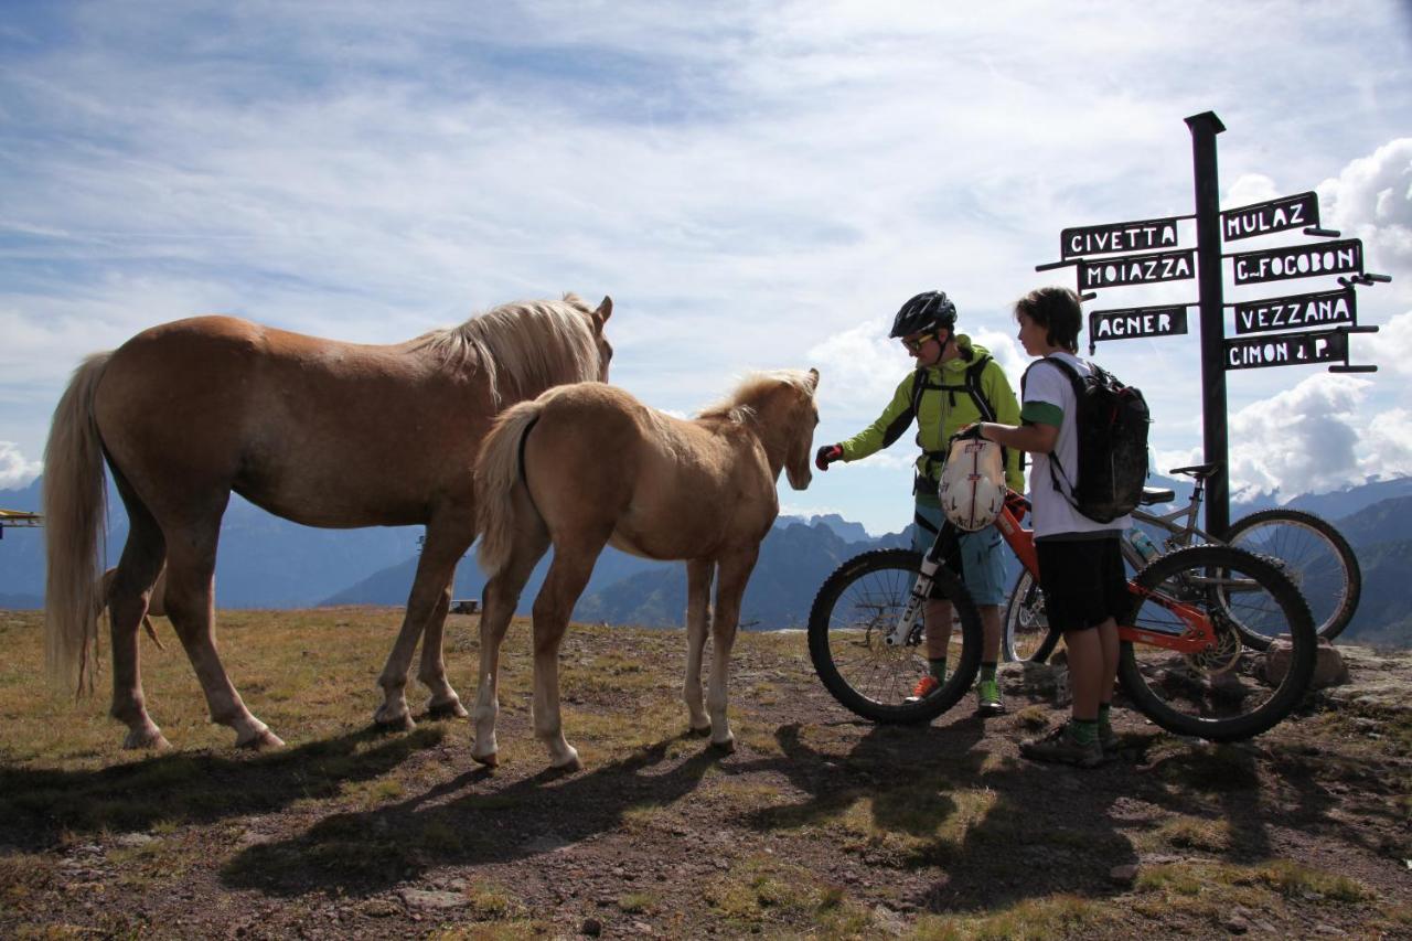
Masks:
[[[459,517],[460,521],[453,523],[453,517]],[[472,520],[474,520],[472,510],[459,507],[455,513],[449,510],[438,513],[426,524],[426,538],[422,541],[422,555],[417,562],[417,578],[412,581],[412,592],[407,599],[402,627],[397,633],[397,641],[393,644],[393,651],[387,654],[387,664],[377,680],[377,685],[383,687],[383,705],[373,714],[373,725],[384,729],[411,730],[417,728],[411,709],[407,708],[405,690],[412,653],[424,632],[428,633],[428,637],[426,647],[422,650],[419,678],[431,687],[431,705],[443,715],[466,715],[456,691],[446,682],[441,639],[446,609],[450,606],[450,582],[456,574],[456,562],[460,561],[474,538],[474,531],[467,526]],[[433,637],[435,649],[432,649]]]

